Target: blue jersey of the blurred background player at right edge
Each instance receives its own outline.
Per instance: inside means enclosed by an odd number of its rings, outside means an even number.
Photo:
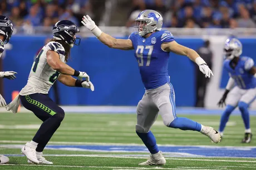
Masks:
[[[235,80],[235,85],[240,89],[256,87],[256,79],[254,75],[249,73],[253,66],[253,59],[247,56],[240,57],[234,69],[230,66],[230,60],[224,61],[224,68],[229,72],[229,75]]]

